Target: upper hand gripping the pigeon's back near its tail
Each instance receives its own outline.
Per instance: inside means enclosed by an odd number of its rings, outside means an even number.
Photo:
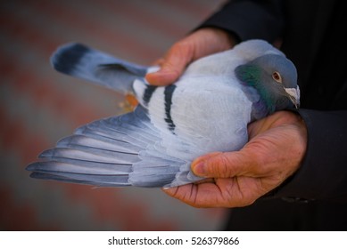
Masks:
[[[175,82],[186,66],[194,60],[214,52],[232,48],[235,39],[219,28],[201,28],[173,44],[166,55],[157,60],[161,69],[145,76],[153,85],[167,85]]]

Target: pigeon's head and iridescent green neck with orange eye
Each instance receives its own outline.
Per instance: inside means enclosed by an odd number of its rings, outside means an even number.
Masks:
[[[285,56],[273,53],[262,55],[235,68],[235,75],[243,84],[257,90],[268,113],[299,108],[296,68]]]

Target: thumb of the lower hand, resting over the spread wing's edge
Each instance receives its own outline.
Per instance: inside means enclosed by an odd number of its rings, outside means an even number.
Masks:
[[[257,161],[244,151],[214,152],[198,157],[192,163],[194,174],[208,178],[231,178],[252,172]]]

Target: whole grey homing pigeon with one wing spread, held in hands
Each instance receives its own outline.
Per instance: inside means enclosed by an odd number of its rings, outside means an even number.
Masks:
[[[171,188],[202,178],[194,158],[242,149],[247,124],[280,110],[299,108],[292,61],[263,40],[192,62],[174,84],[154,86],[145,75],[159,69],[120,60],[84,44],[64,44],[54,68],[131,93],[134,111],[79,127],[28,165],[33,178],[107,187]]]

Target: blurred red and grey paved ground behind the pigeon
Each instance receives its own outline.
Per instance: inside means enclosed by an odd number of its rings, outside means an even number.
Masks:
[[[119,94],[50,67],[76,41],[149,64],[224,0],[0,1],[0,230],[216,230],[223,209],[160,189],[92,188],[29,178],[26,165],[79,125],[126,111]]]

